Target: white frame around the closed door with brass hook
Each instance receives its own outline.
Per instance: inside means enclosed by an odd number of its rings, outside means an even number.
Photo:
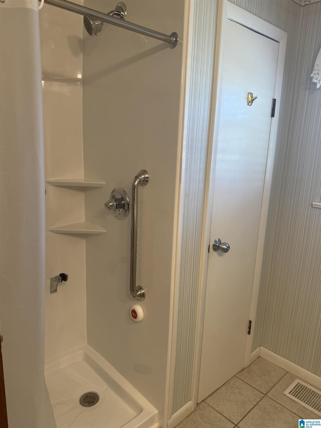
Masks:
[[[271,182],[272,182],[272,171],[274,163],[274,154],[276,146],[276,136],[277,136],[277,126],[278,118],[280,111],[280,99],[281,99],[281,90],[282,90],[282,80],[283,80],[283,71],[284,71],[284,62],[285,62],[285,50],[286,50],[286,41],[287,33],[278,29],[277,27],[263,21],[262,19],[256,17],[255,15],[246,12],[245,10],[235,6],[232,3],[229,3],[227,0],[219,0],[218,6],[218,23],[217,23],[217,49],[215,54],[215,70],[213,73],[213,92],[212,92],[212,112],[211,112],[211,125],[209,132],[209,143],[208,143],[208,162],[206,170],[206,193],[205,193],[205,204],[203,212],[203,230],[202,230],[202,240],[205,243],[202,248],[201,253],[201,272],[200,272],[200,286],[199,286],[199,316],[198,316],[198,325],[197,325],[197,337],[196,337],[196,381],[195,381],[195,390],[193,401],[197,402],[198,397],[198,385],[199,385],[199,376],[201,368],[201,352],[202,352],[202,338],[203,338],[203,326],[204,326],[204,312],[205,312],[205,299],[206,299],[206,282],[207,282],[207,266],[208,266],[208,242],[210,239],[210,228],[211,228],[211,214],[212,214],[212,204],[213,204],[213,191],[214,191],[214,177],[215,177],[215,165],[216,165],[216,150],[218,143],[218,126],[215,126],[219,123],[220,117],[220,105],[222,98],[222,73],[223,73],[223,52],[221,52],[221,42],[222,42],[222,29],[225,20],[235,21],[251,30],[256,31],[257,33],[262,34],[263,36],[269,37],[279,43],[279,52],[276,68],[276,79],[275,79],[275,91],[274,98],[276,98],[276,108],[275,116],[271,120],[270,128],[270,137],[269,137],[269,146],[267,153],[267,163],[265,171],[265,180],[263,188],[263,198],[262,198],[262,209],[259,225],[259,234],[258,234],[258,244],[257,244],[257,253],[255,261],[255,270],[254,270],[254,279],[253,279],[253,290],[252,290],[252,299],[250,307],[250,319],[252,320],[252,333],[248,336],[247,346],[246,346],[246,355],[244,366],[248,365],[251,361],[251,348],[253,340],[253,332],[255,329],[255,317],[256,317],[256,307],[258,301],[258,293],[260,286],[260,276],[261,268],[263,261],[263,248],[264,248],[264,239],[265,239],[265,229],[267,223],[267,212],[269,197],[271,192]],[[271,100],[272,101],[272,100]]]

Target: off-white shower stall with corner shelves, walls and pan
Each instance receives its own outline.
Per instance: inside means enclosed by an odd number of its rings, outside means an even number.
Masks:
[[[158,420],[163,426],[182,45],[170,49],[170,42],[147,37],[139,27],[124,31],[55,3],[45,2],[40,25],[50,230],[46,380],[56,423],[92,426],[97,414],[97,426],[149,428]],[[85,0],[80,6],[116,24],[139,22],[183,34],[183,1]],[[135,267],[145,299],[137,301],[129,291],[132,184],[142,169],[149,183],[139,190],[136,204]],[[122,220],[104,206],[115,188],[130,199],[129,215]],[[82,226],[72,230],[74,224]],[[59,272],[66,272],[68,281],[50,294],[50,278]],[[142,322],[131,317],[134,304],[143,312]],[[80,407],[83,394],[92,407]]]

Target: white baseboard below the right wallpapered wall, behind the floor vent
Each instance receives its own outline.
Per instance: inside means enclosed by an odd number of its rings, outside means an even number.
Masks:
[[[255,350],[254,352],[256,351],[257,350]],[[316,386],[317,388],[321,388],[321,377],[303,369],[300,366],[297,366],[294,363],[291,363],[291,361],[288,361],[285,358],[274,354],[274,352],[269,351],[268,349],[263,348],[262,346],[260,347],[260,357],[264,358],[267,361],[270,361],[273,364],[276,364],[277,366],[281,367],[286,371],[289,371],[300,379],[305,380],[305,382],[308,382],[311,385]]]

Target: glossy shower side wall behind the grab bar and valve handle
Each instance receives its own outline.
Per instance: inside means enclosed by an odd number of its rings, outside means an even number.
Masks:
[[[85,1],[104,12],[111,1]],[[183,34],[183,1],[127,2],[127,20],[167,34]],[[164,421],[169,340],[175,180],[178,152],[182,46],[104,25],[84,36],[84,165],[89,178],[106,181],[85,195],[86,220],[107,233],[86,241],[88,343],[159,411]],[[139,188],[137,284],[146,289],[145,318],[129,318],[130,217],[104,208],[110,191],[130,195],[135,174],[151,178]]]

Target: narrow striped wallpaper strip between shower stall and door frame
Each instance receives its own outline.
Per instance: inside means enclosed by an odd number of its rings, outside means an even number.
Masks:
[[[205,190],[208,127],[212,88],[216,2],[195,3],[190,99],[186,111],[182,186],[182,249],[180,260],[177,349],[172,414],[191,399],[196,334],[196,314],[202,235],[202,201]],[[202,58],[202,61],[199,61]],[[197,202],[195,202],[197,201]]]

